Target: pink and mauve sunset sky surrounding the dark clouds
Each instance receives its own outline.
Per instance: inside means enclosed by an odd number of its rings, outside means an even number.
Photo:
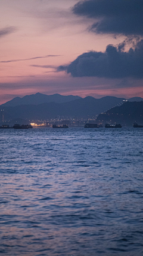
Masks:
[[[77,0],[1,0],[0,104],[14,97],[43,94],[101,98],[143,97],[141,79],[71,77],[55,72],[90,50],[105,52],[123,37],[89,32],[92,19],[75,16]]]

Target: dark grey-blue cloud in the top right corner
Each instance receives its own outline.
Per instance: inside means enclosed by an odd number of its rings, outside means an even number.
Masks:
[[[73,13],[95,19],[89,30],[96,33],[143,35],[142,0],[86,0]]]

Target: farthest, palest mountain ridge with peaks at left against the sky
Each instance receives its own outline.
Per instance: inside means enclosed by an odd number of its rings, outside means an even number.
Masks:
[[[2,104],[1,106],[5,107],[15,107],[20,105],[39,105],[43,103],[65,103],[73,100],[80,99],[79,96],[63,96],[60,94],[53,94],[53,95],[46,95],[46,94],[40,94],[39,92],[37,94],[32,95],[26,95],[23,98],[15,97],[13,100],[8,101],[7,103]]]

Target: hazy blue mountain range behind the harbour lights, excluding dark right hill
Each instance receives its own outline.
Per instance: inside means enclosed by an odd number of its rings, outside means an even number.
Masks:
[[[135,98],[136,101],[143,100]],[[94,97],[81,98],[78,96],[63,96],[60,94],[45,95],[33,94],[23,98],[16,97],[0,106],[4,110],[4,119],[22,118],[26,120],[47,120],[55,118],[95,118],[102,112],[106,112],[116,106],[121,106],[126,101],[125,98]],[[130,98],[128,101],[133,101]]]

